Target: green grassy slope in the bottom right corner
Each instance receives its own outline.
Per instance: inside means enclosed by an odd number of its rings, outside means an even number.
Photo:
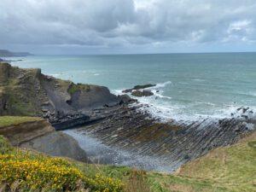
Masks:
[[[194,177],[228,191],[256,191],[256,133],[235,145],[216,148],[184,165],[181,177]]]

